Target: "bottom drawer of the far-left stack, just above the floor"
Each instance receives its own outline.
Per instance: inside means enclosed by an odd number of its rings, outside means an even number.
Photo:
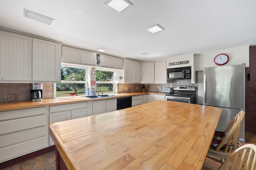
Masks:
[[[0,163],[46,147],[46,137],[0,149]]]

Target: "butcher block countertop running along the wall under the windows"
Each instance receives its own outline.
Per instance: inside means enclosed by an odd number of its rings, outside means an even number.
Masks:
[[[8,111],[8,110],[17,110],[17,109],[28,109],[33,107],[43,107],[43,106],[54,106],[60,104],[71,104],[71,103],[79,103],[79,102],[88,102],[88,101],[95,101],[95,100],[106,100],[106,99],[114,99],[120,97],[128,97],[128,96],[137,96],[143,94],[160,94],[165,95],[161,92],[128,92],[128,93],[115,93],[112,94],[115,97],[109,98],[96,98],[96,99],[89,99],[84,98],[81,96],[70,96],[68,98],[53,98],[53,99],[43,99],[42,101],[37,102],[30,102],[20,101],[20,102],[2,102],[0,103],[0,111]]]

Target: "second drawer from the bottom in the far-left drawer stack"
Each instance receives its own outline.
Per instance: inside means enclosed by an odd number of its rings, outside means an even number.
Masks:
[[[46,136],[46,126],[0,135],[0,148]]]

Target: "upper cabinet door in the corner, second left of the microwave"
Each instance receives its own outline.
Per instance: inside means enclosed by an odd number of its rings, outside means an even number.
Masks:
[[[142,82],[141,83],[154,83],[155,63],[142,63]]]

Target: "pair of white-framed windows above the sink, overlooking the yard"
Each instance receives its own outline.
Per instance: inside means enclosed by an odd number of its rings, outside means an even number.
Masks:
[[[114,70],[96,68],[96,94],[114,93]],[[55,96],[87,96],[90,87],[90,67],[64,65],[61,66],[61,83],[56,83]]]

